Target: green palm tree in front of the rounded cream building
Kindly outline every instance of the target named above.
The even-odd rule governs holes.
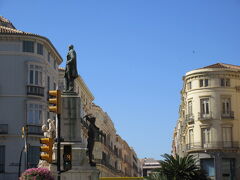
[[[149,176],[150,180],[207,180],[192,155],[174,157],[164,154],[162,157],[164,160],[160,161],[161,168]]]

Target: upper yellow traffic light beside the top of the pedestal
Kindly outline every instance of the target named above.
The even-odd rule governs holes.
[[[49,104],[52,104],[48,107],[50,112],[54,112],[56,114],[61,114],[61,91],[60,90],[52,90],[48,91]]]

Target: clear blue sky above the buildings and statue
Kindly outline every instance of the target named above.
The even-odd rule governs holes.
[[[240,0],[1,0],[17,29],[48,37],[139,158],[170,153],[182,76],[240,65]]]

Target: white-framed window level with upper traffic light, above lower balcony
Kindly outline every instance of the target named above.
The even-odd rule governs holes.
[[[43,105],[29,103],[27,106],[27,123],[41,125],[43,122]]]

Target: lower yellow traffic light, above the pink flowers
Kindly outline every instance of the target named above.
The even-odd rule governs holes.
[[[40,159],[45,160],[48,163],[52,163],[53,155],[53,139],[52,138],[40,138],[40,143],[43,146],[40,146]]]

